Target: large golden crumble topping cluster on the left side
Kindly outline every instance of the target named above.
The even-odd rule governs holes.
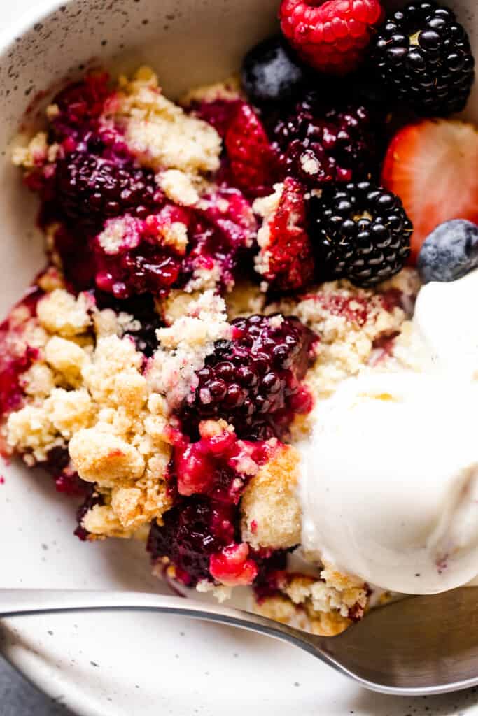
[[[6,444],[29,465],[47,461],[54,448],[68,448],[80,478],[102,490],[105,504],[82,521],[97,536],[130,533],[161,519],[171,506],[166,401],[148,387],[143,354],[129,337],[118,336],[118,322],[126,326],[130,316],[106,309],[92,319],[89,296],[75,299],[60,289],[42,297],[37,309],[38,320],[23,316],[28,330],[21,333],[21,349],[39,336],[44,350],[22,377],[26,405],[10,413]],[[94,348],[75,342],[96,329]]]

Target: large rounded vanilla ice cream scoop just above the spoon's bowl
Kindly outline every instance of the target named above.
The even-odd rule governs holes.
[[[478,573],[478,389],[372,374],[317,405],[302,448],[302,544],[383,589],[431,594]]]

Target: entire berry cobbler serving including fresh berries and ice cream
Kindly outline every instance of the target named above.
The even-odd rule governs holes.
[[[1,450],[80,540],[334,635],[478,574],[474,62],[434,1],[279,20],[176,103],[92,71],[16,146],[47,263],[0,326]]]

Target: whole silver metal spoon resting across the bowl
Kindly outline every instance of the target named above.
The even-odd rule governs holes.
[[[373,609],[338,637],[315,637],[220,604],[135,591],[0,589],[0,617],[60,611],[162,611],[267,634],[373,691],[419,696],[478,684],[478,587]]]

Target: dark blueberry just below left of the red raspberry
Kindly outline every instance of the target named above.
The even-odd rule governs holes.
[[[253,47],[242,63],[242,84],[252,102],[282,102],[300,91],[305,71],[280,37]]]

